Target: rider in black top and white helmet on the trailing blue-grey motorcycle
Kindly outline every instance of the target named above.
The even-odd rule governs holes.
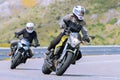
[[[27,39],[31,44],[34,40],[35,47],[40,46],[39,41],[37,39],[37,33],[34,30],[34,26],[35,26],[34,23],[28,22],[24,29],[22,29],[19,32],[15,32],[15,37],[18,38],[20,35],[22,35],[23,38]],[[17,43],[18,43],[18,41],[11,43],[11,46],[10,46],[11,52],[8,54],[9,56],[11,56],[13,54],[12,48],[13,48],[13,46],[17,45]],[[29,53],[28,58],[31,58],[33,56],[31,49],[28,50],[28,53]]]

